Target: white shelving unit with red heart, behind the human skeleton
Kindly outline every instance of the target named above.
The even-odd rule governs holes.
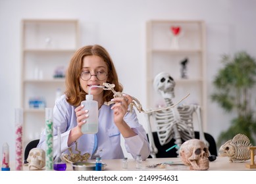
[[[174,45],[171,27],[179,27],[178,47]],[[200,20],[151,20],[147,22],[147,108],[165,104],[163,97],[153,88],[153,80],[160,72],[168,72],[174,81],[174,103],[190,93],[182,103],[199,104],[203,127],[206,128],[205,81],[205,23]],[[188,58],[187,76],[181,75],[182,60]]]

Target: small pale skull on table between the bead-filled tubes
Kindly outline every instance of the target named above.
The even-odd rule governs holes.
[[[34,148],[28,154],[28,168],[29,170],[41,170],[45,166],[45,150]]]

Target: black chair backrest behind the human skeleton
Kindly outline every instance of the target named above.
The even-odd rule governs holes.
[[[216,145],[215,139],[209,133],[204,133],[204,134],[205,134],[206,141],[208,141],[209,143],[209,152],[217,156],[217,145]],[[159,143],[157,132],[153,132],[153,139],[155,142],[155,146],[158,149],[157,154],[155,154],[156,158],[171,158],[171,157],[173,158],[178,156],[175,148],[168,150],[168,152],[166,152],[167,149],[175,145],[174,143],[175,139],[171,139],[170,142],[168,142],[166,145],[163,145],[163,146],[160,145]],[[199,139],[199,131],[195,131],[195,139]],[[184,141],[182,142],[184,143]],[[151,156],[149,156],[149,158],[151,158]]]

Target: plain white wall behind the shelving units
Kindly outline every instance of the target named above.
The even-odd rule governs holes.
[[[205,21],[208,96],[213,90],[213,76],[221,66],[220,55],[245,50],[256,57],[256,1],[253,0],[0,0],[0,145],[9,143],[11,160],[14,160],[14,108],[20,106],[22,18],[78,18],[81,46],[98,43],[106,47],[124,91],[140,99],[141,104],[145,104],[146,93],[147,20]],[[207,104],[205,131],[217,139],[220,131],[230,125],[232,116],[210,99]],[[143,124],[143,114],[139,118]]]

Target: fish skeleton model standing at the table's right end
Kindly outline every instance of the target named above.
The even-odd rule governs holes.
[[[228,156],[230,162],[244,162],[251,158],[249,147],[252,147],[249,138],[239,133],[220,147],[218,156]]]

